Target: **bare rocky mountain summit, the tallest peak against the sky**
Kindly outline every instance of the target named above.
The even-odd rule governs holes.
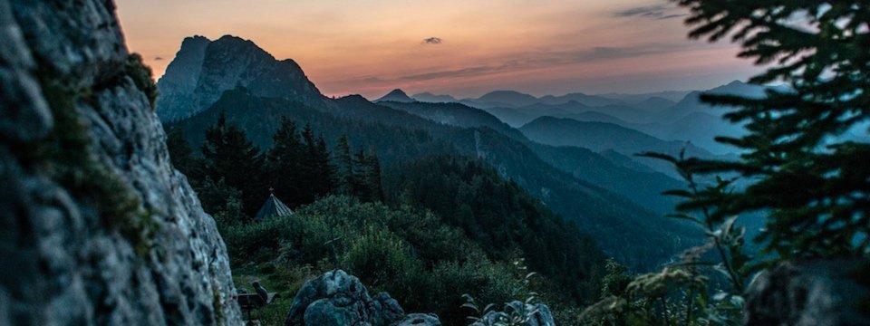
[[[256,96],[315,103],[323,95],[293,60],[277,61],[251,41],[223,36],[185,39],[160,78],[158,115],[164,121],[188,118],[218,101],[220,94],[245,87]]]

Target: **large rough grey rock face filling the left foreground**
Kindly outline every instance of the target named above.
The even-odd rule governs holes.
[[[0,325],[239,324],[104,0],[0,0]]]

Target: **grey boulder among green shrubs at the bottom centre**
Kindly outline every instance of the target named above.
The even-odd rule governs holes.
[[[440,325],[428,314],[405,315],[386,292],[369,295],[365,285],[342,270],[324,273],[304,283],[293,299],[286,326],[303,325]]]

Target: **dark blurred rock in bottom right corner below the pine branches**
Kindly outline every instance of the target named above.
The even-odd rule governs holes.
[[[745,325],[870,325],[870,261],[780,264],[746,294]]]

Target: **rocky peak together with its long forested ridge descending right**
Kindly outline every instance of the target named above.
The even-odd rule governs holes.
[[[409,101],[402,91],[375,102],[357,95],[329,99],[295,63],[275,60],[254,43],[232,36],[203,46],[205,42],[186,40],[179,53],[204,53],[179,54],[181,60],[170,64],[171,72],[159,83],[161,93],[175,100],[159,101],[158,114],[173,121],[167,128],[179,129],[194,149],[220,112],[260,148],[271,145],[283,116],[297,125],[310,124],[330,147],[339,136],[351,136],[353,148],[377,153],[384,170],[433,155],[486,162],[592,235],[605,252],[635,267],[661,264],[701,238],[690,226],[661,217],[673,202],[659,194],[681,182],[618,151],[599,154],[597,149],[542,144],[485,110],[462,102]],[[181,72],[198,72],[198,78]],[[500,104],[506,99],[532,101],[516,92],[484,100]],[[616,104],[622,100],[601,99],[623,105]]]

